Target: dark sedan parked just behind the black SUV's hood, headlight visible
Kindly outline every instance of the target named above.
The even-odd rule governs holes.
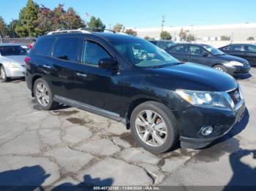
[[[170,47],[167,52],[183,63],[199,63],[227,72],[232,76],[246,74],[251,69],[245,59],[227,55],[208,44],[176,44]]]

